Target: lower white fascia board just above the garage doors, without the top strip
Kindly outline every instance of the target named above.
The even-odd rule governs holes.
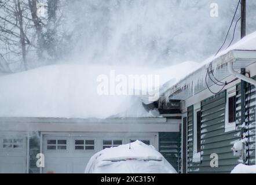
[[[167,123],[0,123],[2,131],[70,131],[70,132],[179,132],[180,124]]]

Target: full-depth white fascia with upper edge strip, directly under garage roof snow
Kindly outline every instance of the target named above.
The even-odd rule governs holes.
[[[0,131],[179,132],[180,120],[0,118]]]

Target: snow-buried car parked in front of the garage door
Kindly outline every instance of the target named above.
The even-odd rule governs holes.
[[[136,142],[99,151],[85,173],[177,173],[153,146]]]

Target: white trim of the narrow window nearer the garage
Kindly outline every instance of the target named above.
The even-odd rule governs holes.
[[[197,136],[196,112],[201,110],[201,102],[196,103],[193,107],[194,108],[193,108],[193,159],[192,159],[192,162],[200,162],[201,161],[201,152],[198,152],[197,151],[198,149],[196,147],[197,141],[198,141],[198,138],[196,137]]]

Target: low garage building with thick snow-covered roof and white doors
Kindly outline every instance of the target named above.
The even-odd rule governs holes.
[[[167,119],[147,111],[140,97],[98,95],[97,75],[109,69],[63,64],[2,76],[0,172],[83,173],[93,154],[134,140],[178,169],[179,107]]]

